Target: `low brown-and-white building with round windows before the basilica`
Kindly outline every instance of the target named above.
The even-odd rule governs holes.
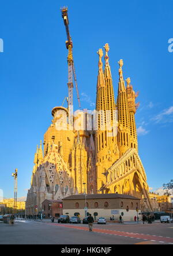
[[[132,221],[141,212],[140,199],[125,194],[89,194],[86,199],[84,194],[80,194],[63,198],[63,214],[70,217],[80,214],[80,218],[84,218],[86,208],[95,220],[99,217],[119,220],[119,215],[122,215],[123,220]]]

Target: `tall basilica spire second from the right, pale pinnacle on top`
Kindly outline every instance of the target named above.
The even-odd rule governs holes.
[[[125,81],[123,80],[122,66],[123,60],[119,60],[119,83],[118,83],[118,147],[120,156],[130,148],[130,129],[129,129],[129,107]]]

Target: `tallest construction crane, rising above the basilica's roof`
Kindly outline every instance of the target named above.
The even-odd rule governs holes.
[[[73,76],[74,76],[78,105],[81,108],[80,97],[79,97],[78,86],[77,86],[77,79],[76,79],[76,72],[75,72],[75,68],[74,68],[73,51],[72,51],[73,43],[72,43],[72,38],[71,38],[70,32],[69,32],[69,18],[68,18],[67,10],[68,10],[67,7],[61,8],[61,14],[62,14],[62,18],[63,18],[63,22],[65,24],[66,34],[67,34],[66,48],[69,51],[68,57],[67,57],[67,63],[68,63],[68,83],[67,83],[67,85],[68,85],[68,90],[69,90],[68,105],[69,106],[73,105]]]

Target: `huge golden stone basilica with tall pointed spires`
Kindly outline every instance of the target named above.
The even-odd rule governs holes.
[[[109,50],[106,43],[104,53],[102,49],[97,52],[95,109],[52,108],[52,123],[34,156],[27,215],[42,212],[45,199],[61,200],[81,193],[132,195],[141,199],[141,211],[153,210],[138,155],[138,93],[130,78],[123,78],[123,60],[119,60],[115,97]]]

